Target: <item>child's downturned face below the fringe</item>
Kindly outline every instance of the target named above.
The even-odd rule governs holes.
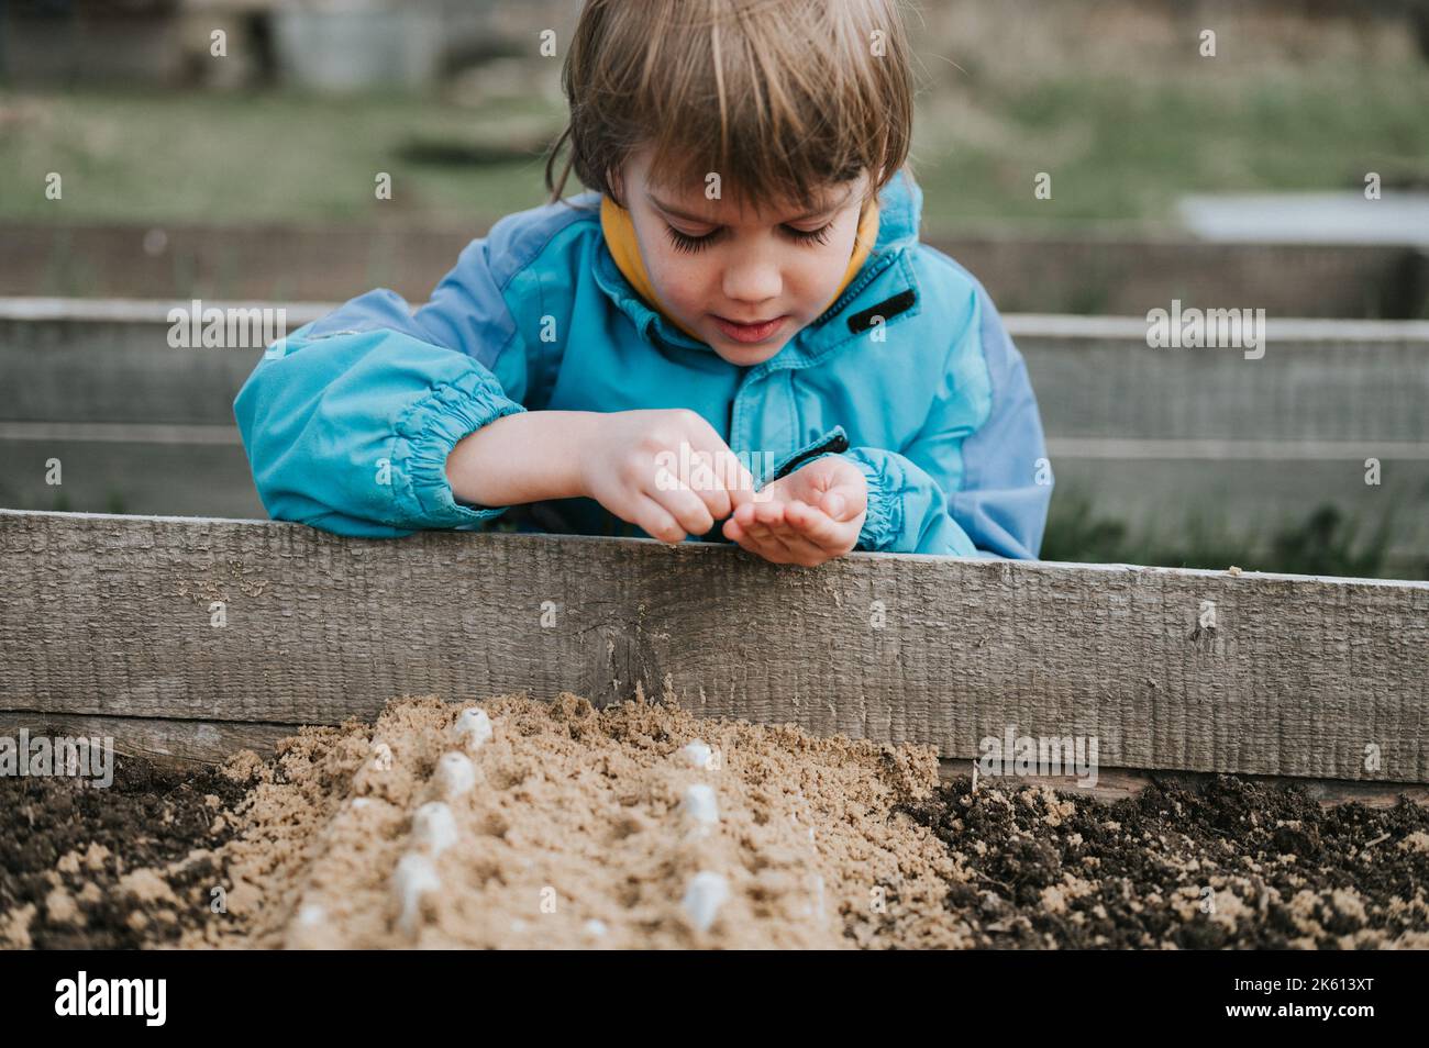
[[[646,181],[650,150],[627,161],[622,196],[662,304],[732,364],[762,364],[829,306],[853,256],[867,173],[802,214],[746,210]],[[696,241],[696,243],[692,243]],[[749,321],[773,321],[743,326]]]

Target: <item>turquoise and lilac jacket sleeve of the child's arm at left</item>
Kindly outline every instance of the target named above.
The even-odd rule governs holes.
[[[459,503],[446,458],[523,411],[536,374],[502,297],[510,220],[472,241],[416,314],[393,291],[369,291],[263,354],[233,410],[273,518],[394,537],[504,511]]]

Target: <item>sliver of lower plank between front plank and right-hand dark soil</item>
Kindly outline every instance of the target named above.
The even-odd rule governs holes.
[[[945,782],[973,774],[975,761],[947,760],[937,762],[937,775]],[[1208,771],[1145,771],[1140,768],[1099,768],[1096,782],[1082,785],[1076,775],[1017,775],[992,778],[979,774],[980,790],[1019,790],[1023,785],[1045,785],[1069,794],[1092,797],[1097,801],[1125,801],[1149,785],[1173,785],[1198,791],[1216,772]],[[1289,775],[1246,775],[1252,782],[1273,787],[1295,787],[1330,808],[1338,804],[1363,804],[1366,808],[1393,808],[1403,797],[1410,804],[1429,807],[1429,785],[1419,782],[1352,782],[1338,778],[1292,778]]]

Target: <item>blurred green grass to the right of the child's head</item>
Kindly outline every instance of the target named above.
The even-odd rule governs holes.
[[[1166,218],[1187,193],[1429,186],[1429,70],[1278,67],[990,87],[915,146],[930,218]],[[926,123],[926,121],[925,121]],[[959,124],[982,129],[960,136]],[[1033,197],[1037,171],[1052,200]]]

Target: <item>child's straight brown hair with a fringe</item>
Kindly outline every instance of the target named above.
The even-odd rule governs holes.
[[[913,77],[900,0],[586,0],[562,83],[570,123],[546,160],[550,200],[572,170],[617,203],[624,161],[650,181],[812,207],[907,163]],[[560,177],[556,158],[569,141]]]

